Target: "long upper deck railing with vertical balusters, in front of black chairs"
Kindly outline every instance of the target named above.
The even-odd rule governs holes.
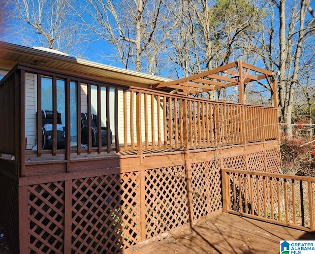
[[[0,136],[1,140],[6,140],[0,143],[1,153],[17,156],[26,147],[26,142],[28,144],[31,142],[30,139],[26,140],[25,128],[27,126],[23,117],[30,116],[26,109],[27,101],[25,101],[26,73],[35,74],[34,90],[37,91],[37,96],[34,95],[34,99],[37,98],[34,103],[35,109],[31,117],[35,118],[36,112],[42,109],[47,110],[47,108],[42,108],[43,77],[49,77],[52,82],[50,96],[54,118],[57,112],[64,112],[65,148],[57,150],[54,125],[52,150],[42,150],[40,146],[37,146],[37,151],[27,151],[27,153],[36,153],[37,156],[63,153],[67,159],[71,153],[82,152],[136,151],[141,154],[142,150],[169,148],[188,151],[198,147],[279,139],[277,108],[275,107],[171,95],[70,76],[66,73],[34,68],[33,65],[18,64],[0,82],[0,117],[5,123],[1,125]],[[62,91],[64,105],[61,110],[60,103],[57,101],[58,89],[60,89],[57,83],[60,81],[64,84]],[[75,84],[76,87],[74,97],[71,97],[73,92],[70,91],[70,84]],[[14,90],[12,90],[13,87]],[[70,101],[73,100],[76,106],[71,108]],[[95,113],[98,116],[99,132],[101,127],[112,130],[114,136],[112,145],[101,146],[101,142],[98,142],[97,147],[92,147],[89,142],[87,148],[81,146],[81,112],[87,112],[89,115]],[[37,114],[37,119],[33,122],[36,123],[33,129],[40,129],[40,114]],[[75,144],[70,134],[71,131],[72,134],[74,132],[73,126],[76,127]],[[13,135],[13,132],[19,133]],[[40,144],[41,134],[37,131],[34,135],[36,136],[34,142]],[[109,140],[110,135],[107,135],[107,144],[110,143]]]

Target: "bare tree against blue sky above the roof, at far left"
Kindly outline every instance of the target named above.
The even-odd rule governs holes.
[[[83,34],[76,13],[72,11],[73,5],[72,0],[11,1],[7,16],[14,24],[12,37],[19,36],[24,44],[32,41],[63,52],[78,52]]]

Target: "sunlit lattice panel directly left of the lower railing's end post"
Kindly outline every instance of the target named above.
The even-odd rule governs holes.
[[[209,215],[222,207],[221,173],[215,161],[191,165],[193,220]]]

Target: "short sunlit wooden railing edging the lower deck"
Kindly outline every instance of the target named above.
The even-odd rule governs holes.
[[[315,230],[315,177],[227,168],[221,171],[223,211]]]

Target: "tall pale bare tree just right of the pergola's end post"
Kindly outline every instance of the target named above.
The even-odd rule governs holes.
[[[285,126],[285,133],[292,135],[292,109],[294,89],[298,84],[298,77],[303,64],[300,61],[301,52],[308,40],[312,40],[312,22],[307,22],[309,0],[295,1],[293,6],[282,1],[272,0],[279,11],[279,47],[275,46],[275,52],[269,52],[273,62],[279,70],[279,107],[280,117]],[[275,24],[275,23],[272,23]],[[272,27],[272,31],[275,29]],[[314,36],[313,36],[314,40]],[[279,49],[279,58],[275,56]]]

